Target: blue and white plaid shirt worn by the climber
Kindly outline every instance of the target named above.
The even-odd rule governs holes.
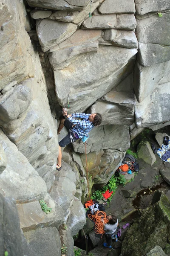
[[[76,133],[79,138],[82,138],[85,134],[88,134],[92,128],[94,128],[93,122],[91,122],[89,118],[90,114],[85,113],[74,113],[71,116],[68,116],[68,120],[75,124],[72,128],[72,132]],[[73,117],[83,118],[83,120],[77,120]]]

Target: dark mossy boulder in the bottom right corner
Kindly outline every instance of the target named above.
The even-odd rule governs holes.
[[[160,193],[159,201],[144,209],[141,217],[128,228],[122,242],[122,256],[147,255],[155,246],[164,248],[169,241],[170,201]]]

